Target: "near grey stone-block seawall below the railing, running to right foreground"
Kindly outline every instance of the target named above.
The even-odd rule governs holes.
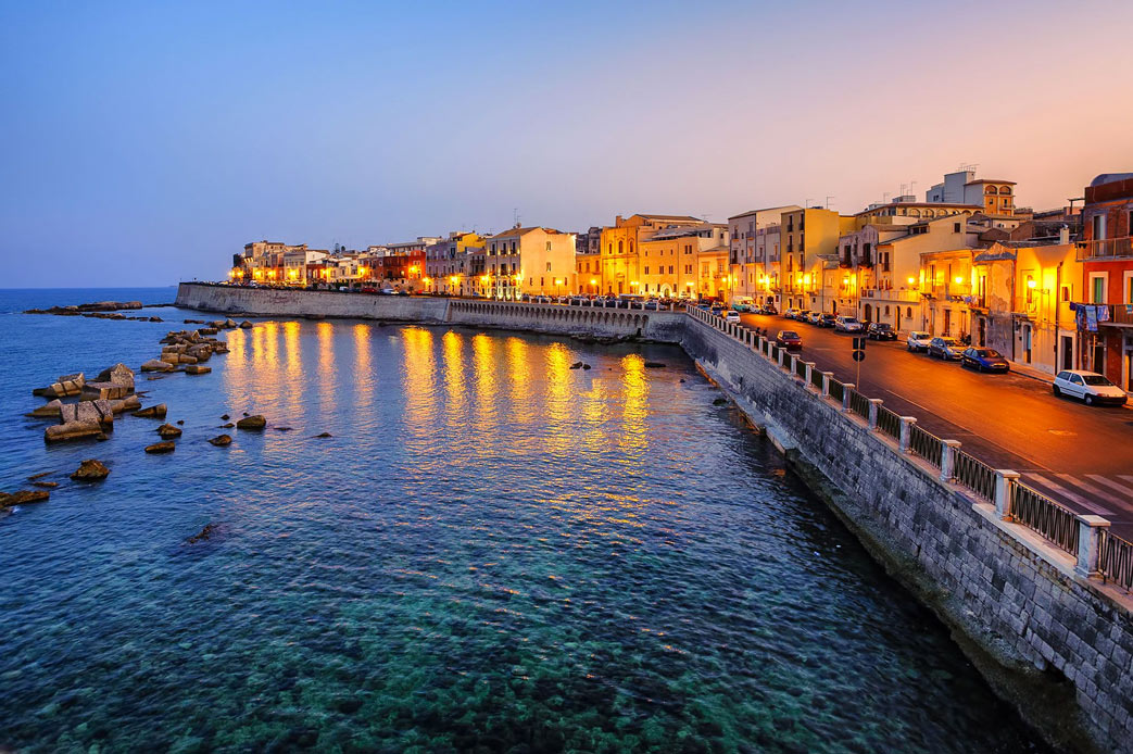
[[[997,691],[1059,747],[1133,751],[1128,595],[1076,575],[1074,557],[940,481],[820,387],[759,353],[749,331],[713,321],[688,316],[684,349],[952,626]]]

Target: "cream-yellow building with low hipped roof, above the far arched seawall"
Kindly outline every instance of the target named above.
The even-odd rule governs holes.
[[[489,236],[477,293],[504,300],[571,293],[577,279],[574,240],[574,234],[538,226]]]

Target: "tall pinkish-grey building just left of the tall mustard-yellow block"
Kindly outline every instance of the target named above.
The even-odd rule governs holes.
[[[749,210],[727,219],[729,263],[735,278],[733,295],[750,296],[759,299],[760,304],[778,303],[773,294],[780,278],[778,231],[783,213],[801,209],[798,204],[773,206]],[[767,238],[770,228],[774,228],[773,239]]]

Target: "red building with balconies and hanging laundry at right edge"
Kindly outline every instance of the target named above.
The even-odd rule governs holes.
[[[1076,259],[1084,283],[1080,364],[1133,392],[1133,172],[1104,173],[1087,186]]]

